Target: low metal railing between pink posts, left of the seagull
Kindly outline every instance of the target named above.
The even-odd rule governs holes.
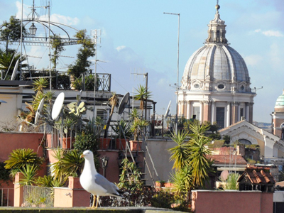
[[[24,207],[54,207],[54,190],[48,187],[23,186]]]

